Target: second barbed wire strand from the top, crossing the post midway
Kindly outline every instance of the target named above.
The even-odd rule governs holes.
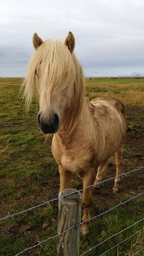
[[[71,226],[71,227],[67,228],[66,230],[64,230],[63,232],[61,232],[61,233],[59,233],[59,234],[57,234],[57,235],[55,235],[55,236],[51,236],[50,238],[47,238],[47,239],[45,239],[45,240],[43,240],[43,241],[41,241],[41,242],[38,242],[38,244],[35,244],[34,246],[31,246],[31,247],[29,247],[29,248],[26,248],[25,250],[23,250],[22,252],[16,254],[15,256],[21,255],[22,253],[27,252],[28,250],[31,250],[31,249],[33,249],[33,248],[36,248],[37,246],[40,246],[41,244],[44,244],[45,242],[47,242],[47,241],[49,241],[49,240],[51,240],[51,239],[53,239],[53,238],[57,238],[58,236],[61,236],[61,235],[65,234],[67,231],[73,230],[73,228],[77,228],[78,226],[80,226],[80,225],[83,224],[83,223],[86,223],[86,222],[88,222],[88,221],[90,221],[90,220],[94,220],[95,218],[101,217],[101,216],[103,216],[104,214],[106,214],[106,213],[110,212],[111,210],[115,209],[116,207],[118,207],[118,206],[120,206],[120,205],[125,205],[125,204],[126,204],[127,202],[129,202],[130,200],[135,199],[135,198],[137,198],[137,197],[140,197],[140,196],[142,196],[142,195],[144,195],[144,192],[143,192],[143,193],[140,193],[140,194],[138,194],[137,196],[134,196],[134,197],[132,197],[132,198],[130,198],[130,199],[124,201],[124,202],[121,202],[121,201],[120,201],[119,204],[117,204],[116,206],[110,208],[109,210],[107,210],[107,211],[105,211],[105,212],[102,212],[102,213],[98,214],[97,216],[94,216],[94,217],[89,218],[89,219],[87,219],[87,220],[84,220],[83,222],[80,222],[80,223],[78,223],[78,224],[76,224],[76,225],[74,225],[74,226]],[[143,219],[142,219],[142,220],[143,220]],[[140,222],[140,221],[139,221],[139,222]],[[136,223],[137,223],[137,222],[136,222]],[[132,226],[134,226],[134,224],[133,224]],[[127,228],[126,228],[126,229],[127,229]],[[84,254],[83,254],[83,255],[84,255]]]

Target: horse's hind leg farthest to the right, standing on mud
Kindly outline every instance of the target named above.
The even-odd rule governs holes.
[[[115,152],[116,176],[120,175],[120,167],[122,166],[122,151],[123,151],[123,145],[118,151]],[[112,188],[114,194],[117,193],[119,190],[119,187],[120,187],[119,182],[120,182],[120,177],[115,178],[114,186]]]

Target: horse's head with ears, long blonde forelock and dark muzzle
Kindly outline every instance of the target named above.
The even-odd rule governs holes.
[[[83,72],[73,54],[75,38],[69,32],[65,42],[43,42],[35,33],[33,45],[35,52],[24,82],[26,104],[29,108],[35,92],[39,102],[37,123],[43,133],[55,133],[69,108],[73,107],[76,115],[81,108],[81,90],[77,84],[81,85]],[[71,106],[72,96],[76,99],[75,106]]]

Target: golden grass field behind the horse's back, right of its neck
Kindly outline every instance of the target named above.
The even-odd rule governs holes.
[[[109,84],[110,97],[117,98],[126,105],[144,106],[144,78],[88,78],[87,97],[108,97]]]

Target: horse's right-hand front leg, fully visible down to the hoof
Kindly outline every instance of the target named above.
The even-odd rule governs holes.
[[[91,172],[86,173],[85,176],[83,177],[83,188],[93,185],[94,181],[95,181],[95,170],[91,170]],[[93,187],[86,188],[83,190],[82,204],[83,204],[84,214],[83,214],[82,221],[85,221],[91,218],[89,214],[89,208],[92,203],[92,198],[91,198],[92,188]],[[87,221],[81,225],[81,234],[86,235],[89,233],[89,222],[90,221]]]

